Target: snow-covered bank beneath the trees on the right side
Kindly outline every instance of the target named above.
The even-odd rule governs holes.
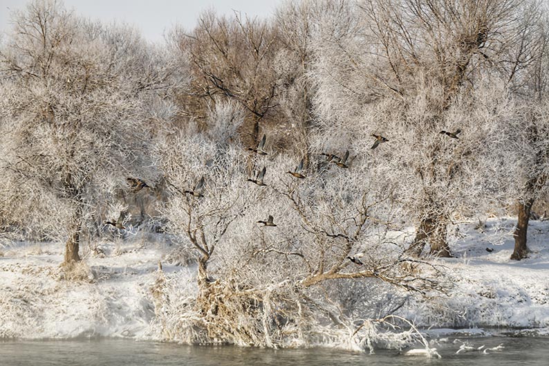
[[[549,221],[530,221],[528,259],[510,260],[516,219],[489,219],[485,226],[455,228],[456,258],[439,259],[453,282],[447,296],[414,299],[401,315],[421,327],[500,328],[499,331],[548,333]],[[460,239],[459,239],[460,238]],[[489,251],[490,250],[490,251]],[[483,333],[498,329],[484,330]]]

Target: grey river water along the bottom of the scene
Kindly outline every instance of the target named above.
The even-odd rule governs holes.
[[[437,345],[442,359],[402,356],[398,351],[380,350],[362,354],[333,349],[257,349],[241,347],[191,347],[171,343],[136,342],[122,339],[0,341],[1,366],[230,366],[230,365],[429,365],[504,366],[549,365],[549,338],[460,338],[476,347],[505,349],[482,354],[456,354],[460,343]]]

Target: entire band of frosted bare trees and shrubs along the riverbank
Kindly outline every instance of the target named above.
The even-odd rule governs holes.
[[[517,214],[523,259],[546,205],[547,15],[537,0],[288,1],[264,20],[205,12],[151,44],[32,1],[0,41],[2,239],[64,241],[78,262],[126,230],[121,201],[149,196],[142,230],[198,264],[207,338],[267,346],[318,308],[344,322],[319,285],[444,291],[429,257],[452,256],[456,223]],[[257,316],[228,335],[243,307]]]

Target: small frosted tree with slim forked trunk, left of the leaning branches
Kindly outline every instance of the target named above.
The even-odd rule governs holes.
[[[186,237],[196,250],[198,280],[211,282],[207,266],[219,241],[245,207],[243,162],[247,154],[236,147],[232,136],[243,122],[234,102],[216,104],[210,111],[208,132],[192,122],[174,129],[157,145],[171,197],[162,208],[168,230]]]

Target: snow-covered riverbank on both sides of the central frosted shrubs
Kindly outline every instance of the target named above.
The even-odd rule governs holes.
[[[456,258],[436,261],[453,277],[454,288],[436,300],[412,298],[399,315],[431,327],[427,333],[435,337],[486,335],[492,327],[549,335],[549,221],[530,221],[532,253],[521,262],[509,259],[513,224],[505,218],[490,219],[484,228],[456,226]],[[102,241],[81,249],[86,265],[76,281],[62,278],[62,250],[59,243],[0,247],[0,338],[160,339],[151,286],[158,261],[173,248],[151,235]],[[163,264],[163,271],[194,286],[192,268]]]

